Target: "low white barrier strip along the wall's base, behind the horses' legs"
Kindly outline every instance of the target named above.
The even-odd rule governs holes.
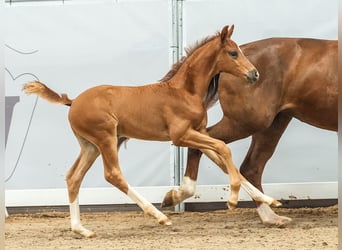
[[[136,187],[135,189],[152,203],[161,203],[167,191],[173,186]],[[265,184],[264,191],[278,200],[336,199],[337,182],[317,183],[277,183]],[[230,191],[227,185],[199,185],[193,197],[185,202],[226,202]],[[133,204],[123,193],[115,188],[83,188],[80,190],[81,205]],[[250,201],[245,191],[240,192],[240,201]],[[22,206],[61,206],[68,205],[67,190],[25,189],[7,190],[6,205]]]

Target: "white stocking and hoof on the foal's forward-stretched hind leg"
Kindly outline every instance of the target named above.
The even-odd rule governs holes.
[[[154,218],[156,218],[160,224],[171,225],[171,221],[165,214],[160,212],[155,206],[153,206],[149,201],[147,201],[143,196],[141,196],[130,186],[128,186],[127,195],[134,202],[136,202],[146,214],[152,215]]]

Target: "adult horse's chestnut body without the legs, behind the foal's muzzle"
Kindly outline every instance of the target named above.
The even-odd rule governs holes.
[[[337,129],[337,41],[268,38],[244,44],[241,50],[260,78],[247,86],[221,74],[219,99],[230,131],[255,133],[270,126],[280,112]]]

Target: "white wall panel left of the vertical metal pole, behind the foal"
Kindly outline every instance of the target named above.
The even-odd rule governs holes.
[[[22,85],[36,76],[73,98],[102,83],[156,82],[169,70],[168,8],[167,1],[129,1],[6,9],[6,96],[20,98],[8,134],[6,177],[16,169],[7,189],[64,188],[79,152],[68,107],[35,103]],[[129,141],[120,162],[131,185],[170,184],[170,143]],[[108,186],[100,158],[83,186]]]

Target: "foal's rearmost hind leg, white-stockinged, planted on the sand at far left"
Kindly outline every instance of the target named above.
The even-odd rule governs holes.
[[[87,173],[95,159],[99,156],[99,151],[94,144],[77,135],[76,137],[80,143],[81,152],[66,176],[70,202],[71,230],[85,237],[93,237],[95,236],[95,233],[82,226],[78,193],[84,175]]]

